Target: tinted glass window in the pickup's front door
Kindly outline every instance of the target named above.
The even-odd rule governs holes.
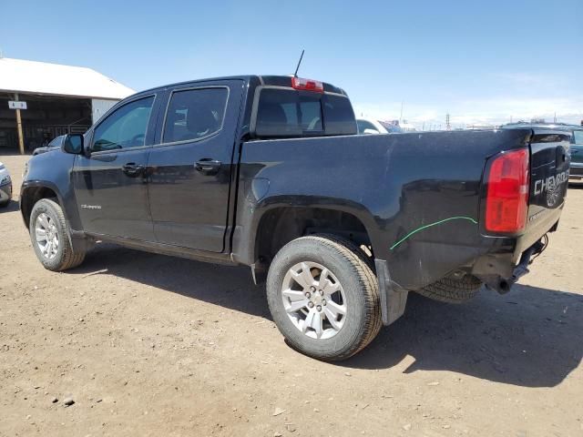
[[[95,129],[94,151],[144,146],[154,97],[119,107]]]

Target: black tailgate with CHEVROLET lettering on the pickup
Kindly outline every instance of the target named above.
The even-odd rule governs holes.
[[[552,228],[560,216],[568,188],[570,140],[568,130],[533,130],[527,233],[534,240]]]

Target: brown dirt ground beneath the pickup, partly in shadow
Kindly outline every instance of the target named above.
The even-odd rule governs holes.
[[[15,199],[26,158],[0,156]],[[366,350],[328,364],[286,345],[249,269],[101,244],[53,273],[14,201],[0,212],[0,436],[581,436],[582,219],[570,188],[511,293],[410,295]]]

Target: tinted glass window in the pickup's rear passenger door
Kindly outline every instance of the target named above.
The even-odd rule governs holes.
[[[222,127],[229,90],[199,88],[172,93],[166,121],[165,143],[208,137]]]

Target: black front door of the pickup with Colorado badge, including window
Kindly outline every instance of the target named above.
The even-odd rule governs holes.
[[[78,156],[73,187],[87,232],[154,241],[148,199],[148,151],[155,96],[118,107],[92,134],[90,155]]]

